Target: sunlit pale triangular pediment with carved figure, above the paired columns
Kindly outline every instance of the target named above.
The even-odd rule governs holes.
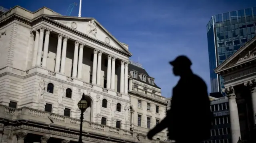
[[[97,20],[94,18],[72,17],[72,16],[52,16],[47,15],[48,18],[84,33],[94,39],[102,41],[119,50],[131,54],[128,51],[128,45],[119,42],[113,35],[111,35]]]

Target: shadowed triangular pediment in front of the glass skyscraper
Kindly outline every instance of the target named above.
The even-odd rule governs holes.
[[[226,59],[222,64],[220,64],[216,69],[215,73],[219,73],[226,69],[242,65],[244,63],[254,61],[256,59],[256,36],[250,41],[245,43],[238,51],[233,53],[228,59]]]

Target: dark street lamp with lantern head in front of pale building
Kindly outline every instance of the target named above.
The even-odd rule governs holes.
[[[81,117],[80,117],[80,134],[78,143],[82,142],[82,126],[83,126],[83,119],[84,119],[84,112],[90,106],[90,103],[87,102],[85,98],[85,94],[83,93],[81,100],[78,102],[78,108],[81,110]]]

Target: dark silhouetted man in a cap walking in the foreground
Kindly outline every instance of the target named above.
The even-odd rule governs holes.
[[[178,56],[170,64],[180,80],[172,90],[171,109],[148,132],[148,139],[168,127],[169,139],[177,143],[200,143],[210,137],[213,119],[206,83],[192,72],[192,63],[186,56]]]

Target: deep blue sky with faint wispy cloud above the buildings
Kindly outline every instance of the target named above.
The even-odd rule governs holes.
[[[31,11],[45,6],[65,15],[73,2],[79,0],[2,0],[0,6],[19,5]],[[83,0],[82,16],[96,18],[128,44],[131,59],[140,59],[162,88],[162,96],[170,97],[179,78],[173,76],[168,61],[181,54],[192,60],[193,71],[206,81],[210,92],[206,24],[214,14],[254,6],[255,0]],[[78,9],[71,15],[77,16]]]

